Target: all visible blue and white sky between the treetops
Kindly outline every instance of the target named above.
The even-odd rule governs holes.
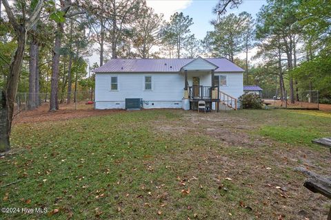
[[[170,20],[170,16],[174,12],[183,12],[185,16],[191,17],[194,24],[190,27],[190,30],[197,39],[203,39],[206,32],[213,30],[210,21],[217,18],[212,13],[212,9],[218,2],[217,0],[146,0],[146,2],[149,7],[154,8],[155,12],[164,14],[166,21]],[[255,19],[259,9],[265,3],[265,0],[243,0],[239,8],[228,8],[226,14],[239,14],[245,11],[252,14]],[[253,48],[249,53],[249,57],[254,56],[256,51],[257,48]],[[239,54],[239,58],[243,58],[243,56],[244,54]],[[95,62],[99,63],[99,54],[94,53],[88,60],[90,65]]]

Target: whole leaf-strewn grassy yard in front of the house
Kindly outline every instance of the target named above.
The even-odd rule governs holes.
[[[15,124],[0,159],[0,219],[326,218],[294,171],[330,173],[331,113],[150,110]],[[276,188],[285,187],[286,191]],[[330,203],[329,203],[330,204]]]

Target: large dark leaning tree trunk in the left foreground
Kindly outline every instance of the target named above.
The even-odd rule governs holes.
[[[26,47],[26,30],[23,26],[17,30],[17,50],[10,63],[10,70],[6,91],[1,91],[0,98],[0,152],[10,149],[10,131],[14,114],[14,100],[19,84],[19,74],[23,63],[24,49]]]

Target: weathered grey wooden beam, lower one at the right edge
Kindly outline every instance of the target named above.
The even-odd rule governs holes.
[[[310,170],[305,168],[296,168],[296,170],[300,171],[304,175],[308,176],[309,178],[305,180],[303,186],[308,188],[308,190],[312,192],[318,192],[325,197],[331,199],[331,178],[330,177],[323,177],[316,173],[313,173]]]

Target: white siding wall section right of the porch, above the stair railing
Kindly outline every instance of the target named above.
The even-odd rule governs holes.
[[[220,91],[225,94],[239,98],[243,94],[243,74],[242,73],[227,73],[215,72],[215,76],[226,76],[226,86],[219,87]]]

